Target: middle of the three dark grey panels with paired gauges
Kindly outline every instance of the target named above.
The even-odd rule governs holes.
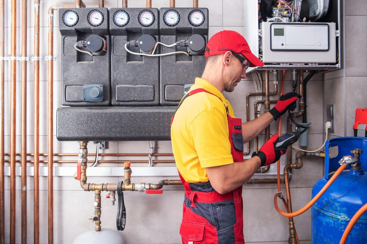
[[[139,14],[144,10],[154,14],[154,22],[150,26],[142,26],[139,23]],[[124,26],[118,26],[114,22],[114,16],[119,11],[125,11],[129,16],[129,21]],[[125,49],[126,42],[138,40],[143,34],[152,35],[159,41],[158,9],[111,8],[109,22],[112,41],[112,105],[159,105],[159,57],[134,55]],[[138,47],[127,48],[139,53]]]

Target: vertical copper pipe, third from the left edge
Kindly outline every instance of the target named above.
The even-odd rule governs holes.
[[[27,56],[27,0],[22,0],[22,57]],[[27,244],[27,61],[21,63],[22,83],[22,194],[21,194],[21,218],[22,218],[22,244]]]

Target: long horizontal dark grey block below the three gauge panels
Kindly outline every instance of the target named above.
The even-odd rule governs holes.
[[[175,106],[61,107],[60,141],[171,140]]]

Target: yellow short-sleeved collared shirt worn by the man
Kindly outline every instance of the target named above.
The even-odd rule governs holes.
[[[171,126],[172,150],[178,171],[189,183],[207,182],[207,167],[233,164],[225,105],[231,117],[234,117],[233,108],[206,80],[196,78],[190,91],[197,88],[217,95],[223,102],[212,94],[200,92],[187,97],[175,113]]]

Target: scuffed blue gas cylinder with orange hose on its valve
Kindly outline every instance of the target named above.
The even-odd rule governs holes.
[[[353,215],[367,203],[367,138],[333,138],[325,144],[325,176],[312,188],[312,198],[324,187],[339,168],[344,155],[352,149],[362,149],[361,169],[346,168],[327,189],[311,210],[311,243],[338,244]],[[329,156],[329,157],[328,157]],[[349,234],[346,244],[367,244],[367,213],[364,213]]]

